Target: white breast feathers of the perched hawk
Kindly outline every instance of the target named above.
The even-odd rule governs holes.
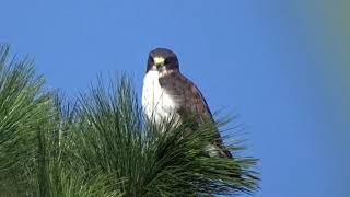
[[[148,118],[155,123],[171,118],[176,112],[176,103],[160,85],[158,71],[149,71],[144,76],[142,107]]]

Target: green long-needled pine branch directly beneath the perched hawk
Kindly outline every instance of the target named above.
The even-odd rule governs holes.
[[[176,128],[174,120],[154,127],[144,120],[127,77],[109,89],[103,84],[80,97],[68,141],[74,150],[70,161],[80,161],[72,169],[113,177],[109,184],[124,196],[226,195],[257,188],[256,159],[207,157],[213,125],[184,138],[191,119]]]

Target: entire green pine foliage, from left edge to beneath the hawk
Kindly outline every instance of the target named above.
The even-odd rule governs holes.
[[[77,101],[44,84],[33,61],[9,60],[9,46],[0,47],[0,196],[210,196],[258,187],[256,159],[207,157],[222,121],[189,134],[191,119],[154,126],[126,74],[100,80]]]

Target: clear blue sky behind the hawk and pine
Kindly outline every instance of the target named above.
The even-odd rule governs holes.
[[[74,97],[173,49],[212,111],[240,114],[258,197],[350,195],[350,3],[326,0],[0,0],[0,43]]]

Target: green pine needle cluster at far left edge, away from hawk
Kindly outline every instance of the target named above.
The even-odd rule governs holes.
[[[0,190],[3,196],[36,195],[36,131],[47,119],[44,79],[27,59],[9,61],[0,45]]]

